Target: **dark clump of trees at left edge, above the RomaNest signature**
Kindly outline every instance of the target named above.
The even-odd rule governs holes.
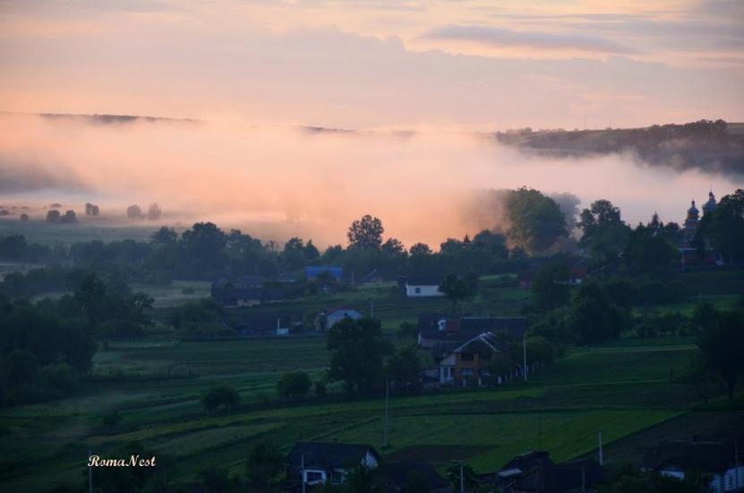
[[[4,404],[72,393],[96,342],[141,335],[152,298],[125,284],[81,275],[73,294],[37,303],[0,293],[0,387]]]

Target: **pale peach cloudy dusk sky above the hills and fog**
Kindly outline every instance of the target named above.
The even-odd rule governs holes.
[[[744,120],[744,2],[0,0],[0,109],[480,130]]]

